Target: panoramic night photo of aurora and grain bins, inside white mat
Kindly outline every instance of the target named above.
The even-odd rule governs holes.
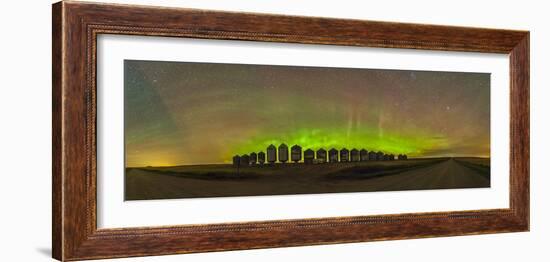
[[[490,74],[124,61],[125,200],[489,188]]]

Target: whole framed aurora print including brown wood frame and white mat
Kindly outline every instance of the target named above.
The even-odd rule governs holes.
[[[529,230],[529,32],[53,5],[53,257]]]

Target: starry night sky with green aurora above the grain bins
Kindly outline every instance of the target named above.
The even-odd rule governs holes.
[[[126,166],[230,163],[269,144],[490,156],[490,74],[124,62]]]

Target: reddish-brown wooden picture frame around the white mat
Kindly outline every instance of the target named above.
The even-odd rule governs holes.
[[[529,230],[529,32],[83,2],[53,5],[53,257],[81,260]],[[98,229],[96,40],[124,34],[504,53],[510,208]]]

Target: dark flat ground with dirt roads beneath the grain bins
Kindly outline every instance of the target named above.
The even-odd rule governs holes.
[[[126,200],[490,187],[490,159],[127,168]]]

